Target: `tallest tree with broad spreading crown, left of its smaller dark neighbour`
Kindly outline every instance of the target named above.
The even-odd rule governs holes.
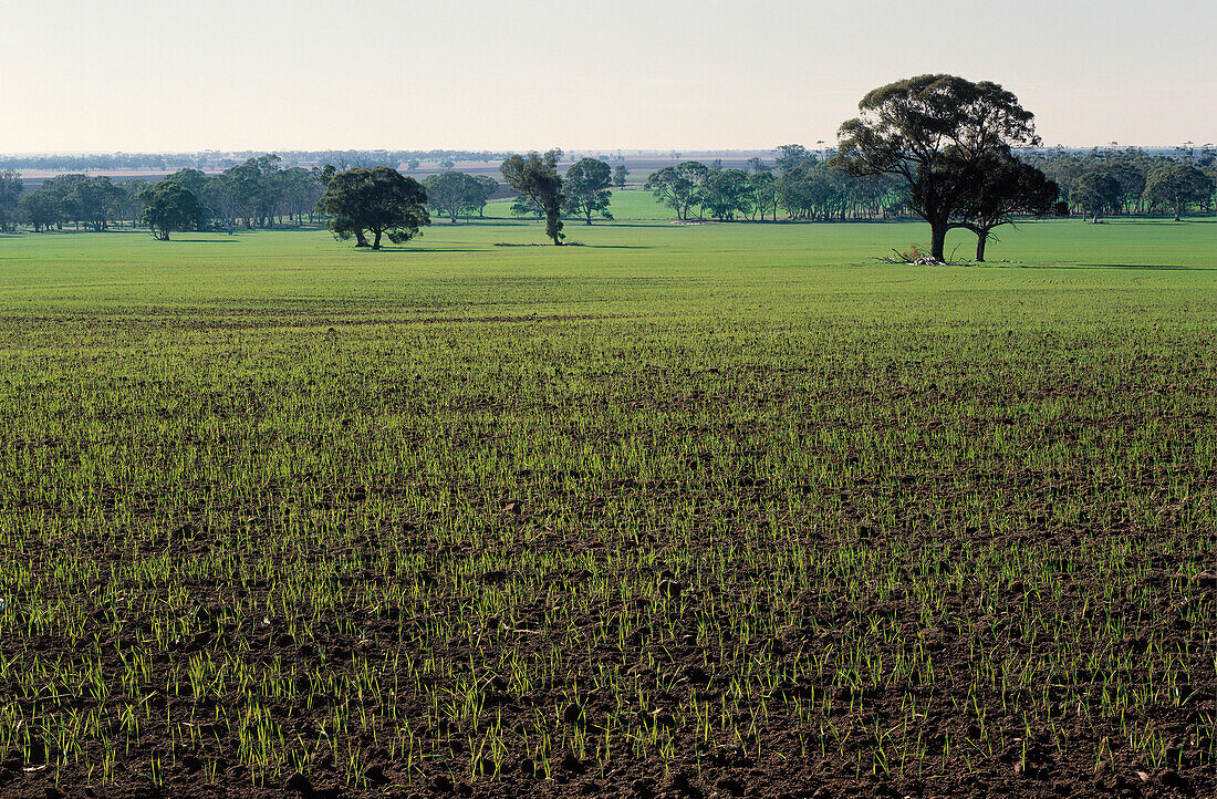
[[[837,158],[854,175],[894,174],[909,208],[930,223],[930,256],[943,261],[947,230],[977,164],[1002,147],[1037,145],[1034,117],[996,83],[919,76],[871,90],[837,132]]]

